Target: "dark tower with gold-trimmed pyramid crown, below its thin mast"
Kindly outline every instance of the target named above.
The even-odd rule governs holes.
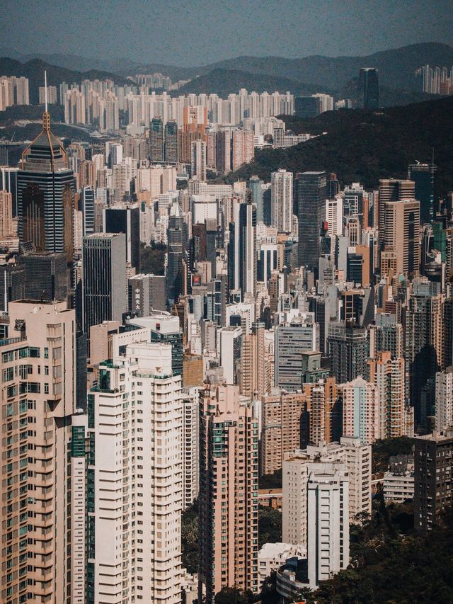
[[[18,235],[36,251],[74,255],[74,173],[68,169],[62,142],[50,132],[50,115],[42,114],[42,130],[22,155],[17,176]]]

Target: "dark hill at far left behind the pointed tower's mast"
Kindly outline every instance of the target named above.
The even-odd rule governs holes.
[[[0,58],[0,74],[2,76],[25,76],[29,79],[30,103],[38,103],[39,87],[44,86],[45,71],[47,71],[47,84],[50,86],[59,86],[62,81],[72,84],[84,79],[112,79],[115,84],[126,84],[128,82],[121,75],[98,71],[97,69],[80,72],[65,67],[57,67],[42,61],[42,59],[31,59],[26,63],[21,63],[17,59]]]

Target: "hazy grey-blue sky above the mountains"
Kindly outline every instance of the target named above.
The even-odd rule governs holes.
[[[0,0],[0,45],[24,54],[188,67],[238,55],[367,55],[453,43],[452,0]]]

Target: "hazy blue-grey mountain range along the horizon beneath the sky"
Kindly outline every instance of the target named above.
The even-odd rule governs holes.
[[[420,91],[420,81],[415,79],[415,69],[423,64],[432,66],[451,66],[453,48],[437,42],[423,42],[375,52],[364,57],[323,57],[313,55],[299,59],[284,57],[236,57],[200,67],[176,67],[160,63],[140,64],[129,59],[92,59],[75,55],[28,55],[19,57],[17,53],[0,49],[5,56],[14,56],[28,61],[40,58],[50,64],[65,69],[86,71],[88,69],[106,70],[122,76],[137,73],[161,72],[173,81],[193,79],[217,69],[261,74],[275,78],[287,78],[295,82],[304,82],[304,86],[313,85],[316,89],[341,90],[352,78],[356,77],[360,67],[377,67],[380,83],[390,89]]]

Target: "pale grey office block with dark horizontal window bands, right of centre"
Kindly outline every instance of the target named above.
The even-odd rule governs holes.
[[[289,392],[302,386],[302,353],[319,350],[319,324],[314,314],[294,317],[275,330],[275,386]]]

